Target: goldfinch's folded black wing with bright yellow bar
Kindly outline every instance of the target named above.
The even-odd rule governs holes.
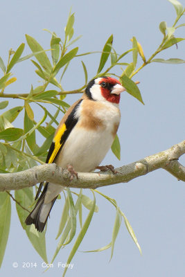
[[[62,120],[60,121],[60,124],[58,125],[58,128],[55,131],[51,147],[49,148],[46,163],[53,163],[55,161],[57,154],[60,152],[60,150],[64,146],[64,143],[67,141],[67,138],[71,133],[71,130],[73,129],[73,127],[75,127],[76,123],[78,122],[78,118],[74,115],[76,114],[76,109],[78,109],[78,106],[80,105],[80,102],[82,102],[83,98],[84,97],[82,96],[82,98],[73,103],[73,105],[71,105],[71,107],[67,110]],[[43,184],[44,182],[39,184],[39,188],[37,190],[35,199],[38,198],[39,193],[42,190]]]

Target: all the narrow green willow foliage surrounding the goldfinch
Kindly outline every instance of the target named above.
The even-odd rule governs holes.
[[[161,62],[166,64],[182,64],[185,61],[179,58],[169,58],[164,60],[156,58],[156,55],[165,51],[167,48],[177,45],[179,42],[183,42],[185,38],[175,37],[175,31],[177,28],[182,28],[185,24],[177,25],[179,19],[184,15],[185,9],[182,7],[181,3],[177,0],[168,0],[173,4],[177,17],[173,26],[168,26],[166,21],[162,21],[159,24],[159,30],[163,35],[161,44],[157,47],[155,53],[146,59],[144,55],[143,48],[138,42],[136,37],[132,37],[132,44],[130,49],[124,51],[123,53],[117,53],[113,47],[113,35],[107,39],[105,45],[103,46],[103,51],[98,52],[88,52],[88,53],[78,53],[78,47],[73,47],[80,36],[73,39],[74,35],[74,14],[69,13],[69,18],[67,19],[67,26],[64,28],[64,37],[60,38],[55,32],[46,30],[51,34],[51,40],[49,42],[49,50],[44,50],[39,42],[30,35],[26,35],[26,42],[30,48],[31,53],[24,57],[21,57],[24,52],[24,43],[21,43],[16,51],[8,52],[8,63],[5,64],[0,57],[0,97],[1,98],[17,98],[20,101],[19,107],[12,107],[7,109],[0,115],[0,171],[3,173],[7,172],[17,172],[21,170],[26,170],[36,166],[38,163],[44,163],[46,159],[46,154],[53,140],[53,134],[55,132],[55,127],[58,125],[58,118],[61,118],[65,113],[66,109],[69,107],[67,102],[64,102],[69,93],[82,92],[85,89],[88,80],[88,71],[85,63],[82,63],[82,68],[85,75],[85,82],[82,84],[82,87],[76,89],[75,91],[64,91],[63,89],[63,78],[64,74],[69,68],[69,64],[73,64],[73,60],[79,59],[84,55],[97,55],[100,53],[100,62],[98,64],[98,71],[95,76],[91,78],[97,78],[98,76],[103,75],[115,75],[112,73],[115,68],[120,69],[120,73],[116,75],[116,78],[119,78],[123,86],[125,87],[127,93],[130,93],[134,98],[143,103],[141,97],[141,92],[136,83],[132,80],[134,75],[138,73],[144,66],[152,64],[152,62]],[[72,47],[71,47],[72,46]],[[130,61],[131,57],[131,61]],[[13,70],[15,69],[16,64],[20,64],[25,60],[33,58],[31,62],[35,66],[35,73],[41,78],[42,84],[39,87],[33,88],[31,86],[28,93],[17,93],[6,95],[6,87],[11,85],[17,79],[12,77]],[[80,64],[79,62],[79,64]],[[138,66],[138,63],[141,62],[141,66]],[[17,65],[18,66],[18,65]],[[81,64],[80,64],[81,66]],[[50,87],[48,88],[48,86]],[[24,102],[24,103],[23,103]],[[47,107],[53,105],[55,107],[55,114],[50,114]],[[0,109],[6,109],[8,107],[8,100],[0,102]],[[37,114],[42,114],[39,120],[36,121]],[[44,113],[44,114],[43,114]],[[14,127],[14,121],[16,119],[21,120],[23,123],[22,128]],[[47,123],[46,123],[47,122]],[[39,147],[37,145],[37,135],[43,137],[43,143]],[[116,135],[114,143],[112,144],[112,152],[120,160],[120,143],[118,136]],[[118,231],[120,231],[121,220],[124,220],[125,226],[128,233],[130,233],[134,243],[139,248],[141,252],[141,247],[136,239],[136,235],[130,223],[127,220],[127,217],[118,207],[116,200],[103,195],[98,190],[94,190],[96,193],[105,197],[108,202],[110,202],[114,208],[116,208],[116,217],[113,224],[112,238],[111,242],[105,247],[93,250],[93,252],[104,251],[105,249],[111,248],[111,257],[114,253],[114,247]],[[96,197],[94,191],[91,190],[93,198],[87,197],[87,195],[82,193],[74,193],[73,190],[64,190],[64,197],[62,197],[63,212],[59,224],[58,233],[56,235],[58,240],[58,245],[53,255],[52,261],[55,260],[55,257],[58,255],[58,252],[61,248],[64,248],[67,244],[73,243],[71,253],[69,253],[69,258],[67,263],[71,262],[76,251],[80,247],[80,243],[84,238],[91,219],[94,213],[98,213],[98,206],[96,206]],[[3,260],[3,255],[6,249],[6,243],[8,240],[8,233],[10,229],[10,195],[8,193],[0,193],[0,265]],[[15,199],[17,201],[16,208],[17,214],[19,215],[19,221],[22,228],[26,231],[28,239],[33,244],[33,247],[47,262],[46,257],[46,240],[45,240],[45,231],[39,233],[35,230],[33,225],[26,226],[24,220],[28,215],[28,211],[33,208],[35,204],[33,188],[25,188],[24,190],[15,191]],[[83,209],[88,210],[87,217],[84,222],[82,222],[82,211]],[[78,220],[79,217],[80,231],[77,233]],[[73,242],[76,235],[76,241]],[[66,273],[67,268],[64,271],[63,276]]]

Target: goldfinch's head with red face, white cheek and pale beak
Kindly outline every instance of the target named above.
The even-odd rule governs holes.
[[[111,77],[91,80],[85,89],[87,97],[91,100],[109,101],[116,104],[119,103],[122,91],[125,91],[125,88],[118,80]]]

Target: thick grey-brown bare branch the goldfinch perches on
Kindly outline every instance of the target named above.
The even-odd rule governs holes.
[[[42,181],[50,181],[60,186],[69,188],[99,188],[101,186],[110,186],[118,183],[126,183],[132,179],[143,176],[163,168],[185,181],[185,168],[177,160],[182,154],[185,154],[185,141],[173,145],[168,150],[153,154],[127,166],[116,168],[118,173],[98,172],[98,173],[78,173],[78,179],[69,180],[69,171],[64,170],[55,163],[46,163],[42,166],[35,166],[25,171],[16,173],[0,174],[0,191],[19,190]]]

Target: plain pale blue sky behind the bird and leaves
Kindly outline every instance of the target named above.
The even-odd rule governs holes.
[[[131,47],[130,39],[134,35],[143,46],[146,57],[149,57],[161,42],[159,22],[165,20],[171,26],[176,16],[175,9],[166,0],[3,1],[0,12],[0,55],[3,60],[8,57],[9,48],[16,49],[21,42],[26,42],[26,33],[35,37],[45,49],[50,48],[51,36],[42,29],[48,28],[59,36],[63,35],[71,6],[76,13],[75,36],[82,35],[76,44],[80,47],[79,53],[100,51],[113,33],[114,48],[118,53]],[[185,28],[177,30],[177,37],[184,37],[184,34]],[[157,57],[179,57],[185,60],[184,49],[184,42],[180,42],[178,49],[173,46]],[[24,55],[27,53],[30,50],[26,46]],[[96,54],[76,59],[64,78],[64,89],[76,89],[84,83],[80,60],[87,65],[90,80],[96,74],[99,58],[100,55]],[[30,61],[17,64],[14,70],[17,82],[7,91],[21,93],[28,92],[30,84],[36,87],[39,78],[33,69]],[[109,152],[103,164],[121,166],[131,163],[166,150],[184,139],[184,72],[184,64],[153,63],[135,76],[134,80],[141,82],[139,88],[146,105],[141,105],[127,93],[122,95],[122,119],[118,130],[121,161]],[[67,101],[72,103],[79,97],[80,95],[67,96]],[[15,105],[15,101],[17,100],[12,100],[12,105]],[[72,260],[73,269],[69,269],[67,276],[183,277],[185,230],[182,181],[177,181],[164,170],[157,170],[128,184],[109,186],[100,191],[116,199],[127,215],[143,256],[122,224],[111,262],[110,249],[101,253],[78,252]],[[115,211],[103,198],[97,197],[97,204],[99,213],[94,215],[80,251],[103,247],[111,240]],[[12,203],[12,207],[10,236],[1,276],[43,276],[42,259],[21,229],[15,203]],[[49,260],[57,245],[55,235],[61,210],[62,202],[59,201],[52,210],[48,224],[46,238]],[[62,270],[58,269],[57,264],[67,261],[70,249],[71,246],[60,251],[54,268],[44,276],[62,276]],[[18,262],[19,267],[14,269],[12,262]],[[21,267],[22,262],[37,262],[37,268],[24,269]]]

